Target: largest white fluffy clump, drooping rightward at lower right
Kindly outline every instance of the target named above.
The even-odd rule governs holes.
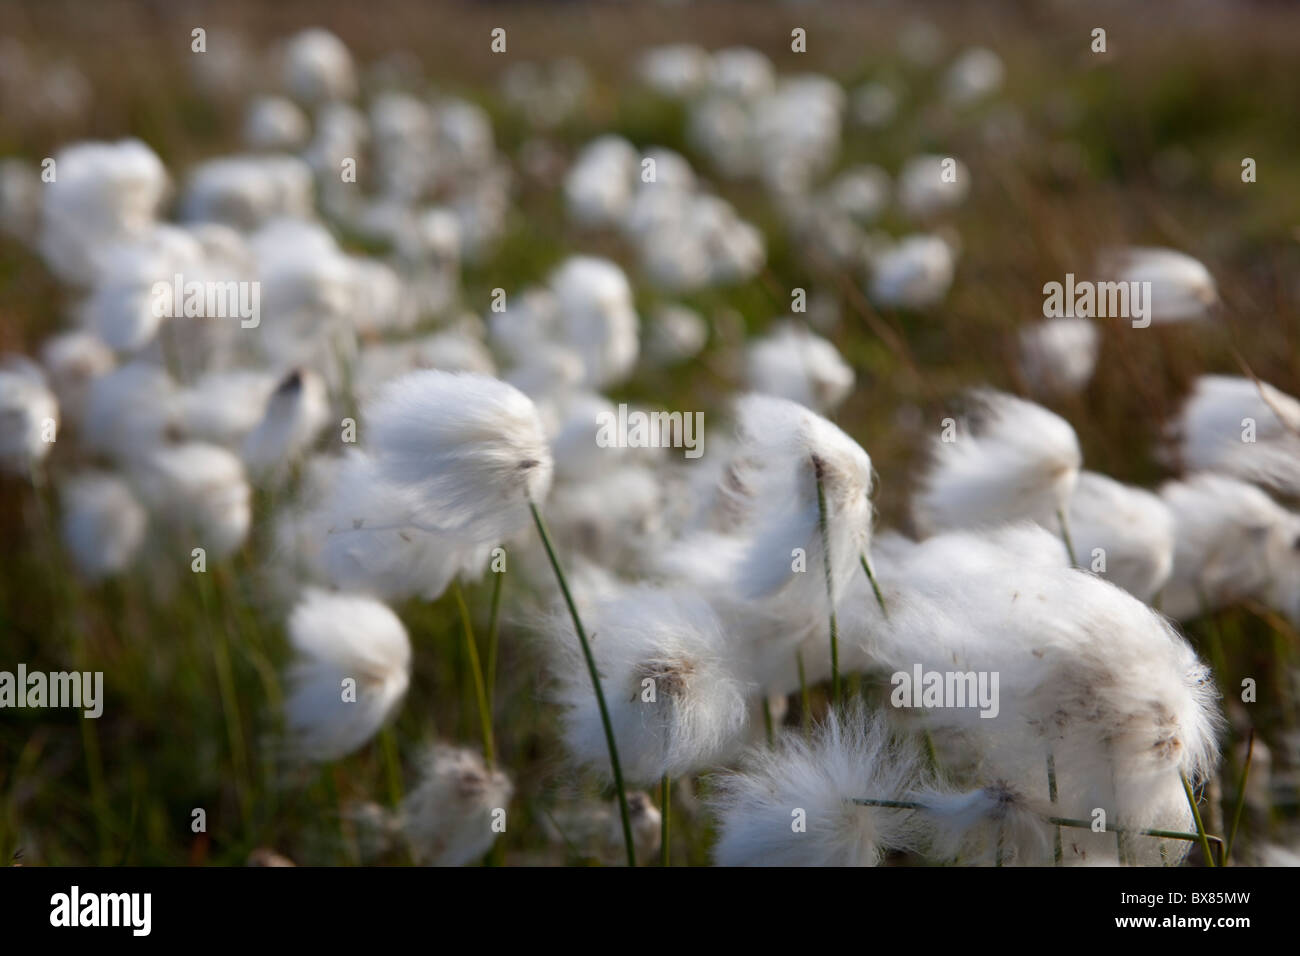
[[[1044,549],[1052,538],[1041,528],[1018,533],[1037,535]],[[884,675],[920,667],[998,676],[993,717],[971,705],[892,710],[935,731],[954,783],[1001,782],[1041,801],[1050,753],[1061,816],[1087,819],[1101,806],[1112,823],[1188,829],[1179,774],[1195,784],[1218,761],[1208,667],[1165,618],[1121,588],[997,550],[979,531],[881,558],[888,619],[864,601],[849,613],[846,602],[841,641],[862,641]],[[1070,842],[1080,855],[1098,852],[1087,834]],[[1113,853],[1113,838],[1109,845]],[[1164,849],[1178,858],[1186,847]],[[1134,852],[1158,861],[1158,851],[1152,840]]]

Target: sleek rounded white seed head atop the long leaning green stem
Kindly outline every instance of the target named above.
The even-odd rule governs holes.
[[[410,496],[425,531],[495,544],[550,489],[537,407],[497,378],[411,372],[376,397],[364,424],[377,475]]]

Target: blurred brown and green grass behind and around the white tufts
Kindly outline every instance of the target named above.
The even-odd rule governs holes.
[[[205,30],[204,53],[191,51],[196,27]],[[283,44],[307,27],[346,44],[363,113],[384,92],[403,91],[471,104],[490,124],[489,160],[472,179],[482,190],[474,202],[490,212],[474,206],[463,219],[463,228],[481,226],[478,241],[462,247],[451,290],[412,328],[485,317],[491,290],[543,284],[575,252],[606,256],[628,272],[644,336],[658,334],[666,306],[697,313],[707,333],[694,354],[640,365],[610,397],[716,412],[720,421],[745,384],[745,343],[788,317],[792,290],[805,289],[807,323],[853,369],[835,420],[872,457],[885,525],[907,527],[923,442],[962,389],[1032,392],[1019,333],[1043,315],[1043,285],[1088,273],[1110,247],[1195,256],[1213,274],[1219,306],[1208,321],[1143,336],[1108,326],[1084,388],[1036,395],[1075,427],[1089,468],[1147,486],[1166,477],[1156,455],[1161,429],[1199,375],[1242,375],[1244,360],[1265,381],[1300,392],[1296,4],[6,3],[0,160],[39,172],[69,143],[135,137],[165,164],[164,208],[176,212],[205,160],[256,150],[250,139],[259,137],[261,148],[283,137],[277,148],[303,155],[317,142],[312,129],[298,135],[292,118],[273,111],[265,129],[250,118],[257,96],[286,92]],[[500,53],[490,48],[497,27],[506,30]],[[1106,31],[1104,53],[1091,49],[1096,27]],[[806,52],[792,49],[796,29],[806,31]],[[731,81],[710,79],[707,62],[690,57],[664,57],[655,72],[646,55],[668,44],[746,47],[771,74],[758,69],[755,79],[750,62]],[[829,95],[829,126],[809,121],[805,130],[815,111],[794,96],[762,113],[772,129],[759,126],[737,155],[725,135],[734,117],[708,112],[708,85],[776,90],[777,81],[811,74],[840,91]],[[320,130],[318,113],[302,116]],[[685,157],[702,190],[758,229],[759,261],[716,281],[672,282],[625,229],[577,221],[566,177],[592,140],[611,134],[638,156],[663,147]],[[781,153],[785,134],[793,146]],[[968,182],[962,202],[902,200],[907,161],[926,155],[959,159]],[[374,163],[367,156],[363,190]],[[1242,179],[1244,157],[1256,161],[1254,182]],[[883,200],[864,166],[884,173]],[[34,356],[75,324],[78,299],[34,250],[21,187],[4,182],[0,352]],[[468,195],[452,181],[429,189],[452,207]],[[350,254],[391,251],[391,235],[373,219],[325,217]],[[920,307],[870,295],[879,251],[918,226],[954,252],[950,284]],[[79,454],[60,442],[51,472],[75,467]],[[212,606],[147,564],[83,580],[49,532],[48,507],[25,476],[0,476],[0,669],[25,661],[104,670],[108,702],[96,722],[69,711],[0,714],[0,855],[31,864],[243,864],[269,847],[300,862],[361,860],[339,808],[384,799],[377,749],[321,771],[290,771],[274,744],[274,674],[286,645],[257,557],[266,542],[257,509],[268,506],[255,503],[254,540],[220,568]],[[472,592],[484,606],[485,585]],[[408,696],[416,705],[402,710],[398,740],[413,748],[434,731],[472,740],[448,600],[399,613],[413,643],[436,653],[416,654]],[[238,757],[205,649],[211,627],[247,639],[230,675]],[[1222,636],[1227,687],[1254,675],[1268,688],[1252,721],[1271,765],[1252,771],[1264,795],[1244,826],[1257,844],[1280,840],[1300,784],[1296,633],[1231,610],[1187,628],[1202,649],[1206,628]],[[586,860],[599,853],[547,838],[564,770],[525,631],[507,619],[502,635],[498,739],[521,821],[503,858]],[[1226,780],[1240,769],[1243,727],[1234,723]],[[707,862],[707,821],[693,816],[689,792],[682,800],[675,852]],[[188,826],[196,806],[208,810],[207,834]]]

